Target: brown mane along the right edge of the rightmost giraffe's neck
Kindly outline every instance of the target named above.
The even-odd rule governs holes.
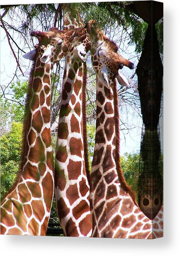
[[[120,132],[119,132],[119,104],[118,104],[118,94],[117,94],[117,86],[116,80],[113,81],[113,95],[114,95],[114,123],[115,123],[115,162],[117,175],[119,178],[119,182],[121,187],[129,196],[132,198],[135,205],[139,208],[136,202],[136,194],[132,190],[131,186],[129,186],[125,180],[124,174],[122,172],[121,163],[120,163]]]

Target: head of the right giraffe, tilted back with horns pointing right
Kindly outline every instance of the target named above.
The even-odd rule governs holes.
[[[118,70],[122,69],[123,66],[133,69],[134,64],[117,52],[118,46],[105,36],[95,20],[89,21],[87,32],[91,37],[92,66],[98,77],[98,83],[110,88],[117,77],[119,84],[128,86],[126,77],[120,74]]]

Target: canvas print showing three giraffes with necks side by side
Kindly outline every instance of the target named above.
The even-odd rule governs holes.
[[[163,3],[1,5],[1,234],[163,237]]]

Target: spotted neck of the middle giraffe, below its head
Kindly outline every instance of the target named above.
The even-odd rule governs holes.
[[[91,236],[82,126],[82,61],[67,56],[55,159],[55,197],[66,236]]]

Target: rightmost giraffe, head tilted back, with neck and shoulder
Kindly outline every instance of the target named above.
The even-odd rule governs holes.
[[[133,63],[117,53],[110,41],[91,20],[92,66],[96,73],[96,134],[90,177],[92,237],[152,239],[162,237],[162,230],[152,232],[152,221],[139,209],[131,187],[120,166],[118,94],[115,78],[128,86],[118,69]],[[155,223],[154,223],[155,224]]]

